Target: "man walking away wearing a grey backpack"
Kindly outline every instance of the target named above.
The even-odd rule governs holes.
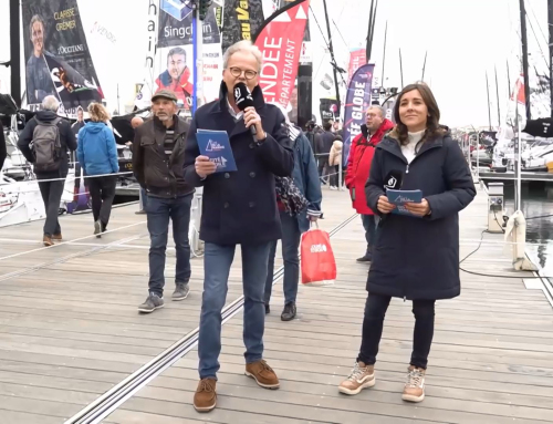
[[[46,210],[44,223],[44,246],[53,246],[62,240],[62,229],[58,221],[65,177],[69,173],[67,151],[76,149],[76,139],[71,124],[60,116],[60,102],[53,95],[44,97],[42,111],[29,121],[19,136],[18,147],[33,164],[39,179],[39,188]]]

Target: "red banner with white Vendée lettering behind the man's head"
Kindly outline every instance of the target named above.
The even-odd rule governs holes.
[[[259,86],[265,102],[288,107],[293,95],[310,0],[299,0],[273,13],[255,37],[263,55]]]

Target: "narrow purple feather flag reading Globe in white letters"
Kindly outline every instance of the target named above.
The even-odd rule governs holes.
[[[365,123],[367,108],[371,105],[374,69],[375,65],[368,63],[361,66],[353,74],[347,87],[344,110],[344,154],[342,155],[344,166],[347,164],[352,142],[361,133],[361,126]]]

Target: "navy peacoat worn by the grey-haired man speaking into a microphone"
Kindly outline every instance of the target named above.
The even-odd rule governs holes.
[[[219,100],[194,115],[185,147],[185,180],[204,186],[200,239],[217,245],[261,244],[281,238],[281,224],[274,195],[274,176],[291,176],[294,157],[284,116],[265,104],[261,89],[252,92],[267,139],[258,145],[243,120],[234,122],[227,105],[227,87],[221,84]],[[237,172],[217,173],[201,180],[195,162],[200,155],[198,128],[229,134]]]

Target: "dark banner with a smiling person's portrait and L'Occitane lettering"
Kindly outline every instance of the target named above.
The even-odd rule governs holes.
[[[48,95],[61,114],[76,115],[104,99],[86,43],[76,0],[22,0],[28,108]]]

